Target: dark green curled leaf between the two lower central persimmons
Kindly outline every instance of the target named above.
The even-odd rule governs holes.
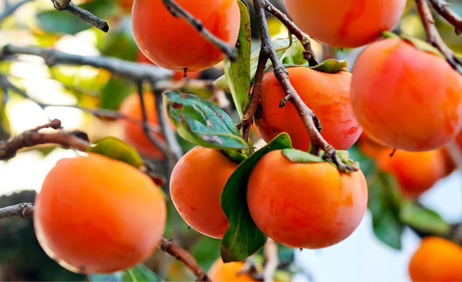
[[[242,162],[229,177],[221,193],[221,206],[229,220],[220,245],[220,255],[225,263],[241,261],[256,253],[266,242],[266,236],[258,229],[247,207],[247,182],[258,160],[268,152],[292,148],[291,139],[281,133],[266,146]]]

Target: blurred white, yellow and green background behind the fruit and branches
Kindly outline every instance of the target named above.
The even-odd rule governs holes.
[[[20,1],[0,0],[0,14],[7,5],[17,2]],[[73,2],[104,18],[110,26],[110,31],[103,33],[68,13],[54,10],[49,0],[31,0],[0,22],[0,47],[6,44],[32,45],[73,54],[106,55],[127,61],[146,62],[142,55],[140,56],[131,34],[131,0]],[[282,1],[273,2],[283,9]],[[462,15],[462,0],[451,0],[451,4],[453,10]],[[259,48],[258,32],[255,29],[257,25],[252,5],[249,6],[255,36],[253,50],[256,50]],[[454,51],[462,53],[462,37],[457,36],[453,27],[442,18],[436,14],[435,17],[446,43]],[[273,39],[287,37],[286,29],[276,19],[268,16],[268,25]],[[408,9],[396,31],[425,39],[425,30],[416,14],[413,1],[409,1]],[[350,70],[362,50],[338,50],[316,42],[313,42],[313,47],[320,58],[347,59]],[[87,132],[90,140],[108,135],[124,138],[122,126],[117,120],[95,116],[79,108],[117,111],[123,100],[136,92],[135,86],[128,80],[89,66],[49,67],[44,64],[43,59],[29,55],[20,55],[13,61],[0,62],[0,74],[7,75],[12,83],[30,96],[25,97],[15,91],[10,91],[6,95],[0,89],[0,140],[45,124],[49,118],[59,118],[67,130],[79,129]],[[221,66],[217,66],[198,76],[201,79],[216,79],[222,74]],[[181,79],[181,75],[176,79]],[[207,98],[213,95],[200,94]],[[41,107],[43,105],[46,106]],[[253,132],[252,137],[254,143],[262,144],[262,141],[258,141],[257,132]],[[190,148],[190,144],[182,140],[180,144],[184,150]],[[72,150],[40,147],[22,152],[8,162],[0,162],[0,207],[33,202],[35,192],[40,191],[46,174],[56,161],[72,156],[75,156]],[[152,160],[152,163],[159,169],[159,173],[163,173],[162,163],[157,160]],[[361,163],[363,169],[367,165],[368,163]],[[460,223],[462,173],[455,170],[440,179],[432,189],[421,195],[420,203],[436,211],[447,223]],[[284,253],[281,256],[289,262],[287,265],[290,265],[285,270],[293,275],[284,277],[286,280],[294,281],[409,280],[408,261],[420,241],[417,233],[405,228],[401,250],[393,249],[375,236],[372,216],[368,211],[355,233],[338,245],[301,252],[283,249]],[[220,241],[189,230],[171,203],[165,237],[174,238],[177,244],[195,256],[205,270],[219,257]],[[162,252],[156,252],[146,265],[165,280],[194,280],[181,264]],[[48,258],[36,241],[32,220],[0,220],[0,280],[87,279],[84,275],[65,270]]]

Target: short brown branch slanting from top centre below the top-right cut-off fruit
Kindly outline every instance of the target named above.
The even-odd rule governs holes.
[[[266,11],[279,19],[279,21],[288,29],[288,31],[297,37],[298,41],[305,49],[303,52],[303,57],[306,61],[308,61],[308,63],[310,63],[310,66],[313,67],[319,65],[316,53],[311,46],[310,38],[308,38],[306,34],[287,17],[287,15],[277,9],[273,4],[269,3],[268,0],[264,0],[263,5],[265,6]]]

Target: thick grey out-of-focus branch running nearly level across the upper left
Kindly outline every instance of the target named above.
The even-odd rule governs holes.
[[[171,77],[172,71],[153,66],[151,64],[133,63],[122,59],[107,56],[82,56],[74,55],[54,49],[46,49],[32,46],[5,45],[0,51],[1,59],[11,59],[14,55],[33,55],[42,57],[48,66],[74,65],[92,66],[110,71],[113,74],[132,79],[134,82],[149,79],[155,82]]]

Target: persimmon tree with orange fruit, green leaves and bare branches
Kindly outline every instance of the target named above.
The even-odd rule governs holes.
[[[0,21],[29,1],[6,7]],[[3,46],[0,62],[32,55],[50,68],[91,66],[132,83],[134,93],[105,95],[100,108],[45,104],[17,86],[8,68],[0,69],[4,98],[16,93],[42,109],[72,107],[115,120],[127,142],[110,136],[90,142],[84,131],[61,128],[59,119],[5,139],[1,160],[37,145],[87,155],[61,160],[35,207],[5,207],[0,218],[34,218],[47,254],[92,280],[159,280],[140,264],[158,247],[200,281],[272,281],[281,270],[287,273],[287,265],[278,261],[278,246],[335,245],[354,232],[367,207],[375,234],[393,248],[401,248],[405,226],[422,237],[462,244],[462,225],[451,227],[416,199],[462,164],[462,144],[454,139],[462,129],[462,62],[438,33],[429,4],[457,34],[462,19],[444,1],[415,0],[425,42],[391,32],[406,1],[369,1],[357,14],[344,1],[331,3],[339,6],[338,14],[322,1],[287,1],[295,23],[268,0],[252,1],[260,38],[254,52],[243,0],[135,0],[131,26],[139,50],[129,52],[130,59]],[[109,31],[97,13],[84,9],[93,2],[83,8],[69,0],[51,2],[57,11],[43,14],[42,21],[68,12]],[[272,41],[266,13],[285,26],[287,38]],[[321,62],[309,35],[340,48],[370,45],[351,74],[345,61]],[[171,79],[175,72],[187,77],[220,62],[224,74],[216,79]],[[124,85],[112,83],[111,91]],[[266,142],[260,148],[249,138],[254,123]],[[46,128],[54,131],[42,131]],[[369,137],[360,138],[362,130]],[[422,171],[409,170],[414,163]],[[425,178],[415,175],[425,169]],[[162,237],[167,208],[158,186],[176,208],[169,213],[178,212],[190,228],[221,240],[221,258],[210,276],[187,251]],[[424,244],[411,262],[413,279],[425,268],[421,253],[436,248]],[[457,244],[445,246],[458,259]],[[451,271],[428,275],[456,279]],[[115,274],[100,275],[108,272]]]

